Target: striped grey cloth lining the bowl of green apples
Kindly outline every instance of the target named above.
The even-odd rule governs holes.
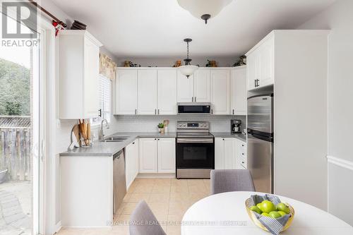
[[[270,194],[265,194],[265,195],[251,195],[251,202],[250,205],[257,205],[258,203],[261,203],[263,200],[270,200],[273,204],[277,205],[278,203],[281,203],[280,198],[278,198],[275,195],[270,195]],[[263,226],[270,231],[271,234],[278,235],[282,231],[283,227],[285,227],[285,224],[287,224],[287,221],[290,217],[290,215],[284,215],[280,218],[273,219],[271,217],[266,217],[263,215],[260,215],[258,213],[255,213],[256,218],[258,221],[263,224]]]

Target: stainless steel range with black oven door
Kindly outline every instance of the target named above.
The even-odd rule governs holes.
[[[215,139],[208,121],[177,122],[177,179],[210,179]]]

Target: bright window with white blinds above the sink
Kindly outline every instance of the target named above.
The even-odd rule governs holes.
[[[92,119],[92,124],[100,124],[103,119],[110,122],[112,116],[112,80],[100,74],[99,76],[99,105],[102,110],[102,116],[97,119]]]

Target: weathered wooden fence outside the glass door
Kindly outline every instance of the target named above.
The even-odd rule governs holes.
[[[31,180],[30,128],[0,128],[0,169],[9,181]]]

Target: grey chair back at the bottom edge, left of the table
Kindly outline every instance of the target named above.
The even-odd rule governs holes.
[[[136,205],[130,222],[130,235],[166,235],[144,200]]]

